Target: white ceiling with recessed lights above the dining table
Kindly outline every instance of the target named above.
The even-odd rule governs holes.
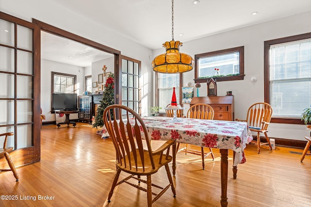
[[[52,1],[147,48],[161,48],[164,42],[172,40],[171,0]],[[311,11],[311,0],[200,0],[196,5],[192,1],[174,1],[174,40],[184,44],[204,36]],[[252,15],[253,12],[258,14]],[[184,35],[179,36],[180,33]],[[53,37],[46,37],[48,40],[55,45]],[[51,50],[42,48],[42,56],[55,53],[45,39],[42,44]],[[72,47],[73,43],[67,40],[61,44],[66,51],[66,46]],[[94,56],[90,48],[78,47],[76,52],[71,52],[75,56]]]

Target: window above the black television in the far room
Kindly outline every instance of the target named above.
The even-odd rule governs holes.
[[[53,102],[52,94],[54,93],[67,93],[67,94],[75,93],[76,92],[75,86],[77,83],[76,81],[77,81],[76,75],[52,72],[51,103]],[[52,104],[51,104],[51,111],[53,111]]]

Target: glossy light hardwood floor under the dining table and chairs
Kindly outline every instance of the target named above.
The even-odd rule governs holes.
[[[115,174],[113,144],[110,139],[96,135],[96,129],[83,125],[42,126],[41,161],[18,168],[19,182],[15,182],[12,172],[0,173],[0,194],[17,198],[1,199],[0,206],[147,206],[146,193],[126,184],[115,189],[107,205]],[[302,149],[278,146],[273,151],[267,147],[260,149],[257,154],[256,145],[247,145],[247,161],[238,165],[237,179],[232,178],[229,167],[228,207],[310,207],[311,156],[301,163]],[[200,156],[180,152],[173,177],[176,198],[168,190],[153,206],[219,207],[220,154],[218,149],[213,152],[215,160],[207,158],[205,170]],[[229,166],[231,158],[229,152]],[[164,168],[153,176],[153,181],[159,185],[168,182]],[[40,196],[49,196],[43,198],[51,200],[39,200]]]

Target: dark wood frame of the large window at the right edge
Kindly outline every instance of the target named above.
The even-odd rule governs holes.
[[[263,71],[264,71],[264,102],[270,104],[270,68],[269,68],[269,51],[270,47],[277,44],[290,43],[294,41],[310,39],[311,32],[298,34],[289,37],[283,37],[273,40],[264,41],[264,55],[263,55]],[[281,123],[281,124],[305,124],[300,118],[271,118],[271,123]]]

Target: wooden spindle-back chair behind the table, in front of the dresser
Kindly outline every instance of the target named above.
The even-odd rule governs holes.
[[[214,110],[213,108],[208,104],[194,104],[190,107],[190,109],[187,111],[187,118],[193,118],[193,119],[213,119],[214,118]],[[189,144],[186,144],[186,147],[183,149],[179,149],[179,143],[177,144],[177,152],[178,151],[184,151],[195,155],[201,155],[202,156],[202,167],[203,170],[205,168],[204,159],[211,155],[212,159],[214,160],[214,154],[210,147],[208,147],[209,152],[204,152],[204,147],[201,147],[201,151],[190,149]]]

